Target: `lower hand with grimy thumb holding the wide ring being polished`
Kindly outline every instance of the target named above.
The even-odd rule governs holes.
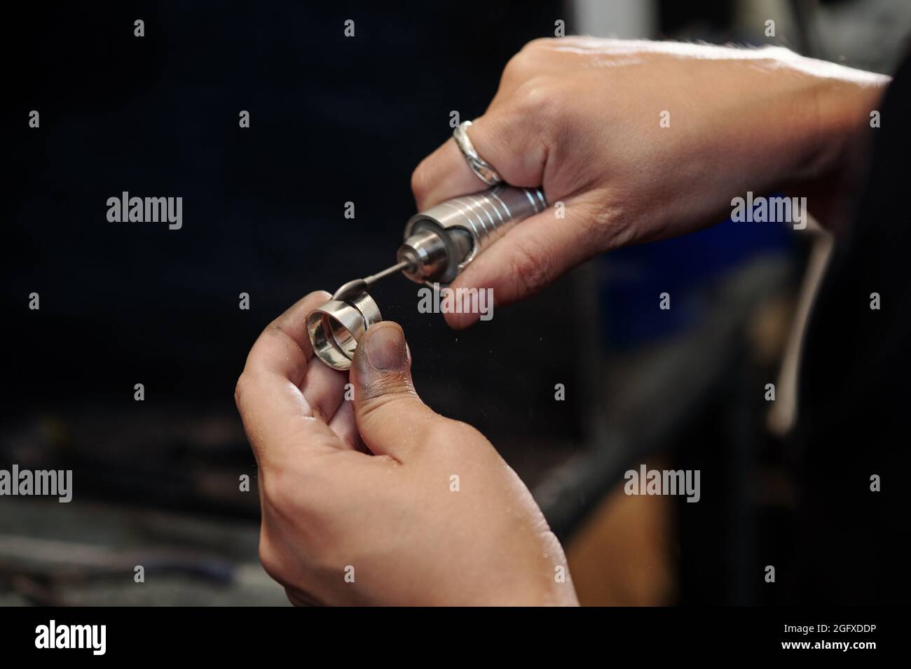
[[[259,464],[260,557],[292,603],[574,604],[566,558],[482,434],[415,392],[402,329],[347,373],[312,355],[312,293],[253,345],[235,399]]]

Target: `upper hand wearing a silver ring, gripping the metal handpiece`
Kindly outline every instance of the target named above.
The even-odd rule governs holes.
[[[720,221],[731,200],[800,186],[832,198],[846,147],[888,78],[777,47],[560,37],[507,64],[468,135],[507,183],[551,208],[478,257],[453,288],[526,297],[583,260]],[[486,186],[453,139],[412,178],[419,209]],[[562,203],[565,218],[558,218]],[[450,313],[465,327],[477,314]]]

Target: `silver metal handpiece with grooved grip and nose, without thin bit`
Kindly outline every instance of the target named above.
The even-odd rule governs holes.
[[[446,200],[408,221],[396,259],[408,262],[408,279],[451,283],[508,228],[547,206],[539,188],[511,186]]]

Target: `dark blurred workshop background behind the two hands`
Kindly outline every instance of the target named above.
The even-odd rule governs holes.
[[[450,136],[451,111],[484,112],[527,41],[553,35],[558,18],[567,34],[619,30],[597,32],[578,5],[5,10],[0,466],[72,469],[75,500],[0,500],[0,603],[281,601],[255,564],[255,462],[233,403],[247,351],[303,295],[393,261],[415,211],[412,170]],[[762,13],[733,2],[650,6],[650,29],[620,36],[783,44],[889,71],[884,35],[905,5],[786,3],[773,40]],[[40,128],[27,125],[32,109]],[[107,222],[107,198],[124,190],[182,197],[183,227]],[[568,542],[583,602],[761,603],[755,573],[793,531],[763,386],[810,245],[727,221],[596,258],[463,332],[418,314],[405,279],[373,295],[404,327],[425,401],[483,431],[527,481]],[[670,312],[656,309],[662,291]],[[40,310],[28,309],[32,292]],[[643,461],[701,469],[702,501],[670,502],[670,529],[650,532],[668,583],[646,576],[648,596],[599,599],[614,591],[581,565],[608,573],[619,557],[588,542],[592,519],[610,516],[622,472]],[[252,492],[238,490],[244,473]],[[630,546],[636,573],[658,573],[635,541],[651,516],[637,514],[615,543]],[[79,557],[87,547],[105,557]],[[118,585],[131,583],[134,553],[169,587]]]

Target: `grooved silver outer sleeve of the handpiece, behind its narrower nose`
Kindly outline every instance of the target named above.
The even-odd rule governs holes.
[[[441,202],[415,214],[404,228],[408,238],[423,228],[461,228],[472,238],[472,248],[458,265],[465,269],[485,248],[501,238],[511,226],[547,208],[540,188],[496,186],[474,195]]]

